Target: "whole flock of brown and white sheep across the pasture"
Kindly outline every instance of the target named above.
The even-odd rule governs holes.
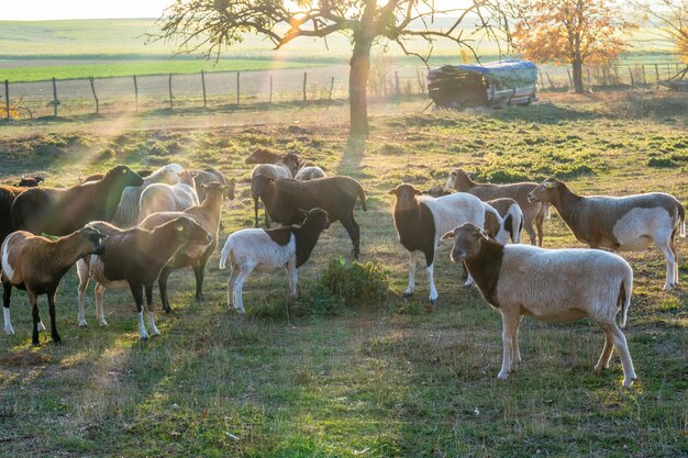
[[[228,304],[244,313],[242,289],[252,271],[287,269],[289,291],[297,294],[297,269],[306,262],[322,231],[339,221],[359,256],[356,203],[366,210],[366,196],[349,177],[326,177],[293,154],[256,149],[247,164],[257,164],[251,192],[255,228],[232,233],[220,256],[220,267],[232,267]],[[142,339],[159,334],[155,326],[153,286],[170,312],[167,280],[174,269],[191,267],[196,299],[203,298],[206,264],[220,239],[221,212],[234,199],[234,180],[215,169],[185,170],[171,164],[136,172],[118,166],[65,189],[38,187],[41,178],[18,187],[0,187],[1,279],[4,331],[10,320],[12,288],[26,291],[33,313],[33,344],[45,326],[37,295],[46,294],[51,334],[60,338],[55,321],[55,292],[63,276],[77,265],[78,324],[86,326],[85,291],[96,281],[96,315],[107,325],[106,289],[129,289],[138,313]],[[542,183],[476,183],[462,169],[451,172],[446,188],[421,192],[402,183],[396,197],[393,221],[401,245],[409,252],[409,283],[415,288],[415,268],[425,258],[430,282],[429,309],[437,300],[433,267],[436,254],[451,246],[451,258],[463,262],[466,286],[477,284],[485,300],[502,315],[503,358],[499,378],[506,379],[521,361],[519,325],[523,315],[562,322],[591,317],[606,335],[596,365],[609,367],[613,348],[621,356],[624,387],[636,376],[621,327],[628,320],[633,271],[615,252],[656,245],[667,262],[664,288],[678,283],[675,237],[685,236],[685,211],[665,193],[629,197],[580,197],[554,179]],[[265,222],[278,228],[258,228],[258,202]],[[543,224],[553,205],[576,238],[591,248],[543,249]],[[532,245],[520,244],[525,230]],[[49,235],[47,235],[49,234]],[[443,242],[447,241],[447,242]],[[448,243],[451,242],[451,243]],[[512,242],[512,244],[509,244]],[[534,246],[537,245],[537,246]],[[612,252],[612,253],[609,253]],[[147,311],[148,326],[144,320]]]

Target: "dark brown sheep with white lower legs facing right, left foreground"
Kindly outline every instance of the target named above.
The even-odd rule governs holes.
[[[129,288],[136,302],[138,313],[138,334],[142,340],[148,339],[143,320],[143,291],[146,292],[146,310],[151,334],[159,335],[153,313],[153,283],[160,270],[175,253],[189,243],[209,244],[212,238],[193,220],[177,217],[162,224],[153,231],[141,227],[120,230],[103,221],[88,225],[108,235],[106,250],[100,256],[90,256],[77,262],[79,276],[79,326],[86,326],[84,299],[90,278],[96,280],[96,315],[102,326],[104,319],[102,297],[106,288],[123,290]]]

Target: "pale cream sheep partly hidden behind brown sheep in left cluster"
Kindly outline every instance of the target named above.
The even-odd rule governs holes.
[[[189,206],[198,205],[198,194],[193,178],[196,172],[185,170],[179,174],[177,185],[153,183],[141,193],[138,219],[157,212],[180,212]]]

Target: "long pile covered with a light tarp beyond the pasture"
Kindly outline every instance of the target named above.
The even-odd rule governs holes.
[[[537,67],[529,60],[445,65],[428,74],[436,108],[529,104],[537,98]]]

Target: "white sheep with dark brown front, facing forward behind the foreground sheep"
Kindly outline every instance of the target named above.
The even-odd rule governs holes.
[[[495,209],[465,192],[434,199],[421,196],[421,191],[411,185],[402,183],[389,193],[397,197],[393,217],[399,242],[409,250],[409,286],[403,295],[410,297],[415,290],[415,265],[418,257],[423,254],[430,281],[429,310],[432,310],[437,301],[434,261],[442,234],[466,222],[482,227],[486,214],[491,214],[498,221],[501,221],[501,217]],[[502,239],[506,237],[503,230],[499,236]],[[469,278],[466,286],[471,282]]]

